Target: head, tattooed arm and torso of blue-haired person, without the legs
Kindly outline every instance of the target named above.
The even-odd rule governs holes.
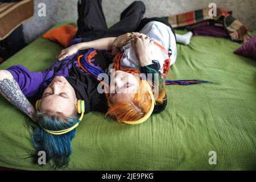
[[[98,64],[107,68],[108,59],[97,56],[101,57],[97,60],[105,60]],[[57,167],[67,165],[72,153],[71,140],[81,122],[77,119],[81,113],[79,102],[84,102],[85,114],[108,110],[102,105],[106,97],[97,92],[99,82],[81,71],[73,57],[56,61],[44,72],[30,72],[23,65],[0,71],[0,93],[38,123],[31,135],[32,143],[36,151],[46,152],[47,162],[52,159]],[[29,100],[37,101],[37,109]]]

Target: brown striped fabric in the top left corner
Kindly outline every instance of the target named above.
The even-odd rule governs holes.
[[[0,40],[5,39],[34,15],[34,1],[23,0],[19,2],[0,3]]]

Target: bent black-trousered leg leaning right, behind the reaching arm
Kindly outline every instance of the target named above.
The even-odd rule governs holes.
[[[137,30],[146,7],[141,1],[134,1],[121,14],[120,22],[114,24],[108,30],[108,36],[119,36],[127,32]]]

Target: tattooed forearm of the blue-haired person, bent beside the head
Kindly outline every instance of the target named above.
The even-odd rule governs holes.
[[[18,107],[23,113],[27,114],[33,121],[35,109],[20,90],[18,82],[14,80],[9,71],[0,70],[0,93],[11,104]]]

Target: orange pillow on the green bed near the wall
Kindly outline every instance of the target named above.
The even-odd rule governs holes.
[[[62,46],[67,47],[68,43],[73,40],[76,35],[77,27],[72,26],[71,24],[66,24],[59,28],[54,28],[46,32],[43,35],[43,38],[52,40],[53,42],[58,42]]]

